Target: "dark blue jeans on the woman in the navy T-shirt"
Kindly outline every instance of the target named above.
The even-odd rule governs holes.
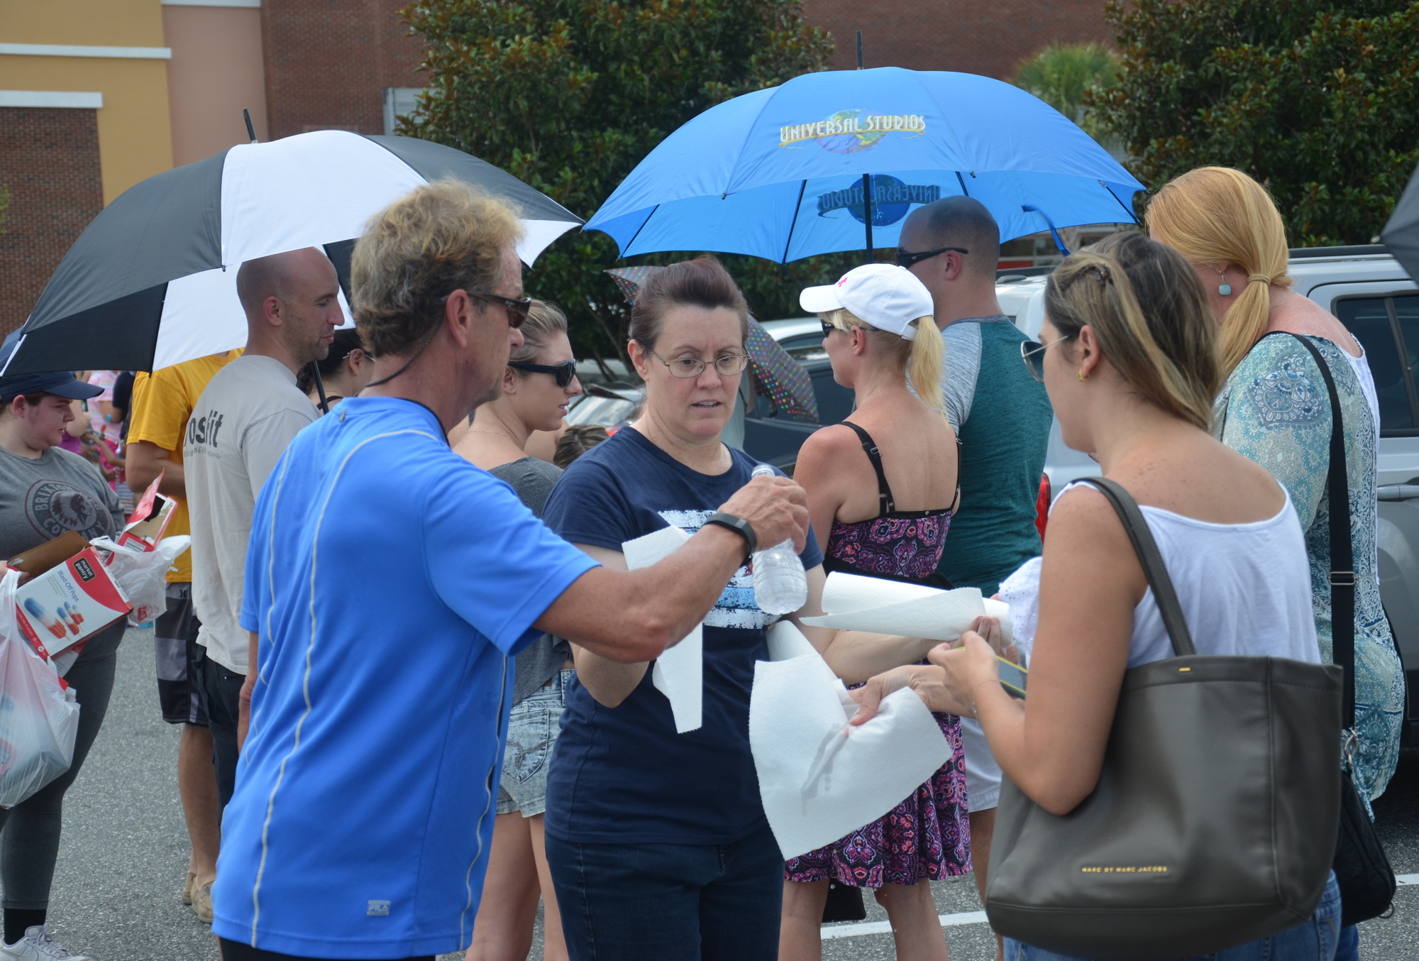
[[[775,961],[783,856],[732,845],[576,845],[546,835],[572,961]]]

